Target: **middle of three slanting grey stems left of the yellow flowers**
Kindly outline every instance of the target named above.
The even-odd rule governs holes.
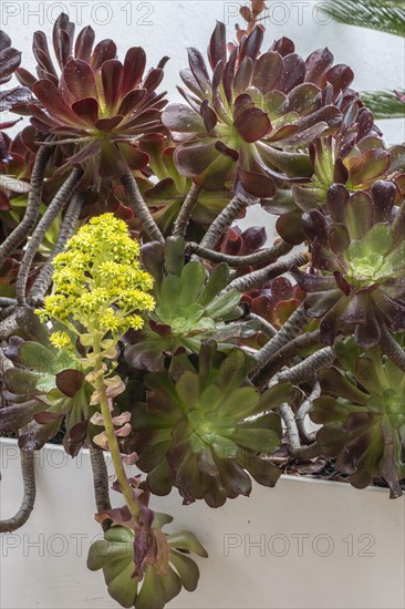
[[[83,169],[75,168],[72,171],[71,175],[69,176],[66,182],[63,184],[63,186],[59,189],[51,205],[48,207],[46,211],[38,223],[38,226],[25,249],[24,256],[21,261],[20,270],[17,277],[15,292],[17,292],[17,300],[19,304],[25,303],[25,289],[27,289],[28,276],[31,269],[32,261],[38,251],[38,248],[42,244],[42,240],[45,236],[46,230],[49,230],[54,219],[58,217],[60,211],[70,200],[82,175],[83,175]]]

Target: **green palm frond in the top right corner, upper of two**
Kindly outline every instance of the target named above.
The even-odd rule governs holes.
[[[404,0],[330,0],[321,10],[340,23],[405,37]]]

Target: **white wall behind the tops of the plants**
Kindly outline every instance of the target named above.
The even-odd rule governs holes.
[[[177,100],[178,71],[187,65],[186,48],[193,45],[205,51],[216,20],[228,24],[231,39],[235,24],[242,24],[238,9],[246,3],[224,0],[3,0],[0,24],[13,44],[23,51],[23,65],[33,69],[34,60],[30,54],[33,32],[42,29],[50,33],[59,12],[68,11],[77,24],[91,23],[97,37],[114,38],[121,54],[131,45],[142,45],[149,65],[156,64],[160,56],[169,55],[164,85],[169,99]],[[328,22],[319,11],[321,4],[316,0],[268,1],[268,7],[273,9],[266,21],[266,44],[285,35],[295,41],[297,50],[303,56],[314,49],[329,47],[336,62],[347,63],[354,70],[354,87],[405,89],[403,39]],[[405,121],[382,121],[381,127],[388,143],[405,140]],[[268,215],[261,214],[260,218],[268,224]],[[252,220],[250,214],[248,221],[259,221],[259,216],[255,213]]]

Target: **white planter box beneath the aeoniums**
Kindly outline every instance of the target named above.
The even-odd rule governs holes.
[[[0,448],[4,518],[22,485],[15,442],[1,440]],[[25,527],[1,536],[0,607],[117,607],[102,574],[85,566],[101,530],[87,452],[72,461],[46,446],[37,465],[35,509]],[[116,493],[112,498],[120,504]],[[405,607],[405,506],[383,489],[284,476],[277,488],[255,486],[249,499],[217,510],[180,503],[175,492],[152,506],[175,516],[173,530],[194,530],[209,559],[198,559],[197,591],[183,592],[170,609]]]

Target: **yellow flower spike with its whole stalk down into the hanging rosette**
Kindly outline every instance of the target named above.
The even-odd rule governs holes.
[[[86,381],[94,389],[91,404],[96,406],[96,412],[92,422],[102,430],[93,437],[93,442],[110,451],[116,489],[125,499],[123,508],[106,510],[104,515],[97,516],[100,522],[112,517],[115,526],[121,527],[121,535],[132,539],[133,560],[129,570],[135,579],[128,577],[131,560],[127,560],[125,569],[118,568],[121,574],[123,570],[127,572],[122,581],[123,588],[113,592],[113,596],[124,607],[134,603],[137,608],[163,607],[181,589],[181,579],[175,576],[168,565],[170,548],[160,529],[153,527],[154,515],[147,507],[144,492],[138,489],[138,479],[128,478],[124,469],[118,438],[131,433],[131,413],[114,415],[114,398],[125,391],[121,376],[114,374],[117,344],[129,329],[142,328],[143,311],[154,309],[154,299],[148,293],[153,278],[141,268],[139,245],[131,238],[125,223],[112,214],[93,218],[83,226],[69,240],[65,251],[56,256],[53,266],[52,295],[45,298],[43,309],[37,312],[43,321],[52,323],[55,320],[66,328],[66,331],[59,330],[51,334],[53,345],[73,350],[73,336],[85,350],[79,363],[86,374]],[[114,539],[115,526],[110,534]],[[93,549],[94,553],[96,549]],[[202,549],[199,550],[201,553]],[[111,559],[113,561],[112,555]],[[187,571],[187,568],[193,567],[186,565],[184,568]],[[105,572],[105,577],[111,586],[112,577],[108,574]],[[152,590],[159,574],[165,593],[157,605]],[[144,576],[144,586],[142,589],[139,586],[138,592]],[[168,588],[165,587],[166,582],[169,584]]]

